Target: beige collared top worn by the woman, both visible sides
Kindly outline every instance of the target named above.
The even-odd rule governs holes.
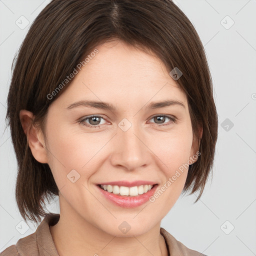
[[[0,256],[59,256],[49,229],[49,226],[56,224],[58,220],[59,214],[46,214],[34,233],[20,238],[15,245],[10,245],[0,252]],[[187,248],[162,227],[160,233],[164,237],[168,255],[206,256]]]

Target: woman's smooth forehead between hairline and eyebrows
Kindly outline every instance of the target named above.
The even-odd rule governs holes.
[[[130,106],[164,98],[186,105],[184,92],[158,57],[118,40],[95,48],[98,53],[75,75],[60,100],[89,98]]]

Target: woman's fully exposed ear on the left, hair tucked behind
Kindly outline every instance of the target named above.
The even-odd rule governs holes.
[[[33,113],[22,109],[19,111],[19,119],[24,133],[26,134],[32,155],[38,162],[47,163],[46,147],[42,132],[32,124],[34,119]]]

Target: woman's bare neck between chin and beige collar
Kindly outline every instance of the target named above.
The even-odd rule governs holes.
[[[74,216],[61,213],[59,221],[50,226],[59,256],[168,255],[165,240],[160,234],[160,223],[146,233],[124,237],[111,235],[85,219]]]

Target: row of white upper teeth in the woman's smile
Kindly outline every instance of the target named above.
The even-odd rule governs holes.
[[[139,194],[146,193],[151,190],[152,185],[139,185],[139,186],[117,186],[117,185],[100,185],[101,188],[109,193],[119,194],[119,195],[131,195],[136,196]]]

